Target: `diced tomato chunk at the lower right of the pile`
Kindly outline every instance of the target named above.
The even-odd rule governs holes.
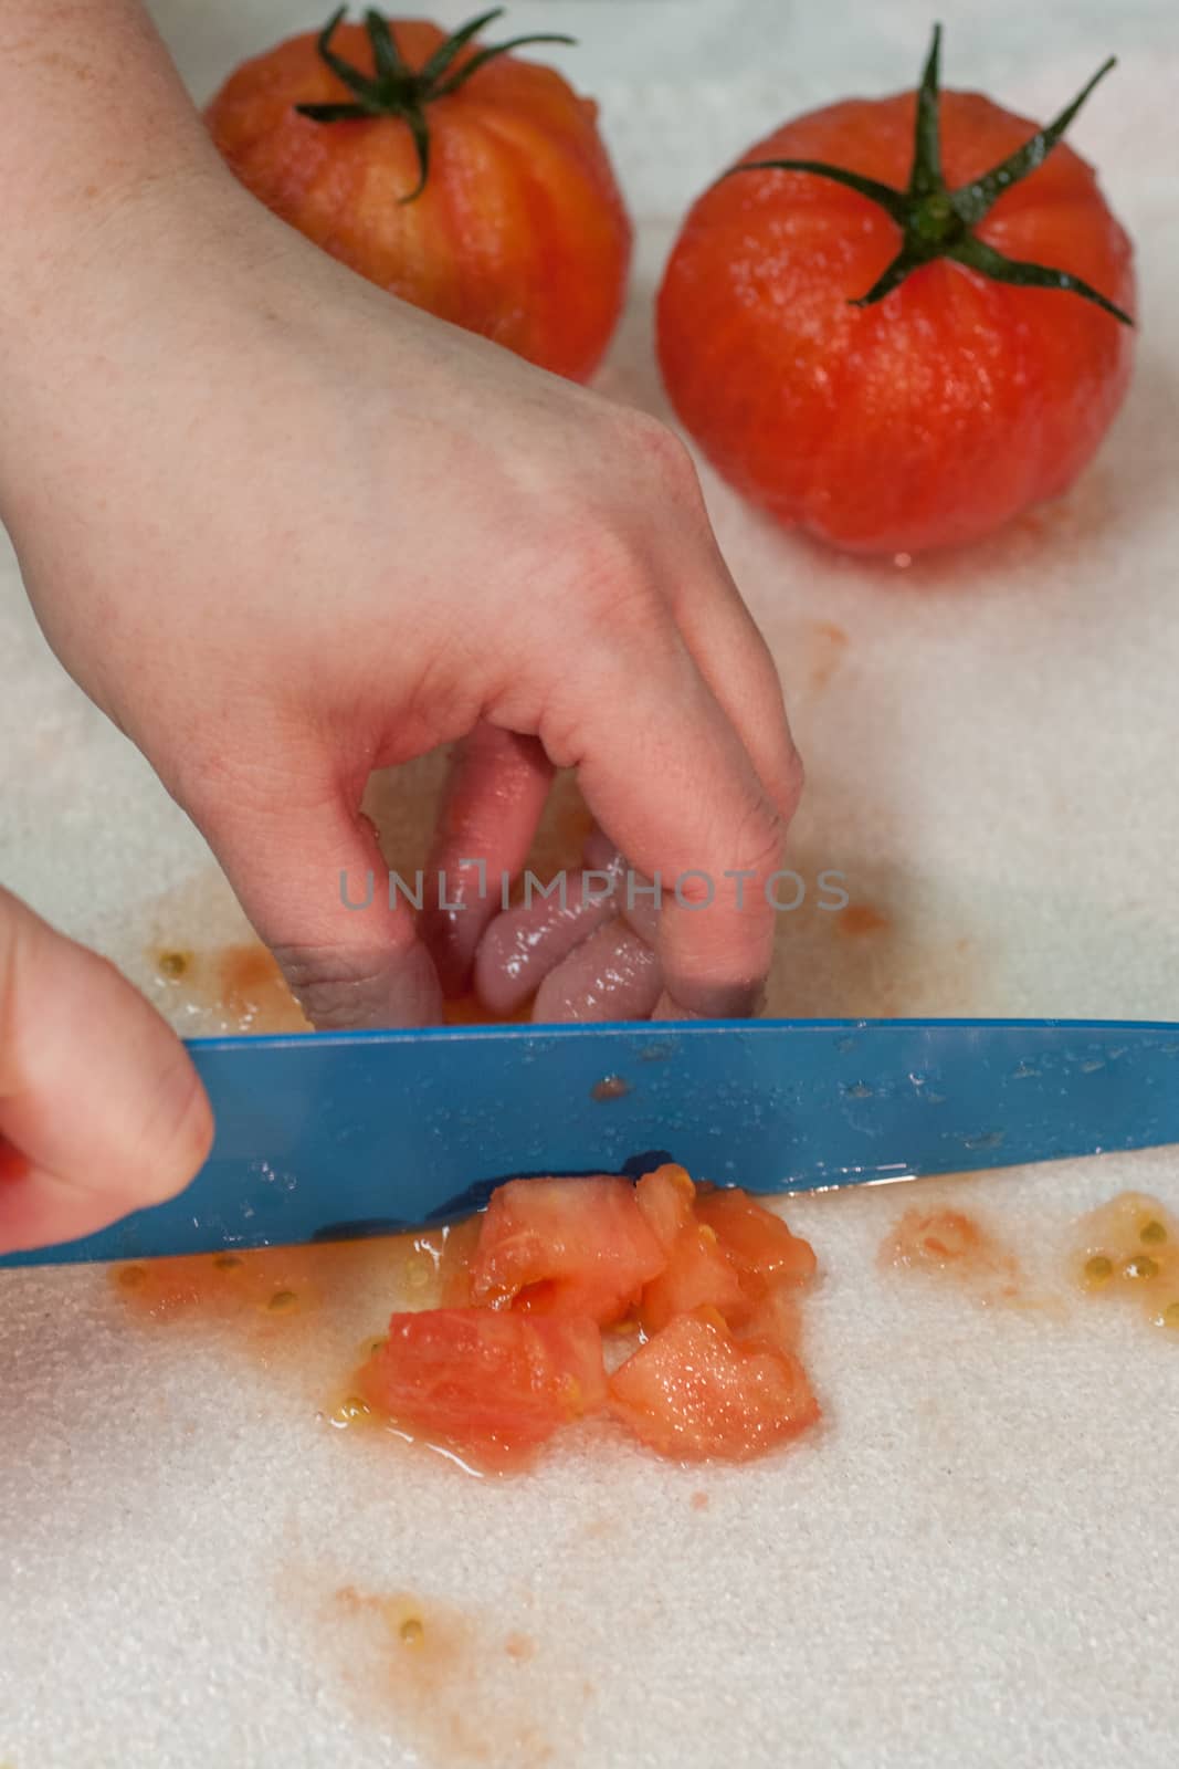
[[[790,1352],[739,1344],[712,1309],[677,1314],[610,1378],[612,1412],[661,1456],[746,1461],[818,1419]]]

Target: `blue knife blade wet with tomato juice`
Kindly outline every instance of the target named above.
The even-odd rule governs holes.
[[[194,1038],[217,1120],[179,1198],[5,1265],[392,1233],[514,1175],[682,1162],[815,1191],[1179,1143],[1179,1026],[702,1021]]]

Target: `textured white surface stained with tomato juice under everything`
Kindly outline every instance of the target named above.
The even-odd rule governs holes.
[[[605,96],[642,223],[603,377],[620,398],[665,410],[650,295],[695,191],[781,115],[909,85],[930,23],[914,0],[792,12],[513,7],[513,28],[583,39],[560,60]],[[887,923],[850,941],[790,918],[774,1007],[1174,1017],[1179,21],[1144,0],[940,12],[949,83],[969,69],[1029,113],[1121,53],[1076,142],[1138,239],[1138,373],[1075,492],[958,561],[825,555],[707,479],[808,759],[795,863],[841,867]],[[159,16],[198,96],[320,21],[293,0],[166,0]],[[230,938],[205,849],[48,656],[7,554],[0,658],[0,877],[141,982],[157,929]],[[1179,1206],[1172,1155],[923,1194],[969,1201],[1050,1267],[1068,1222],[1130,1183]],[[493,1764],[539,1760],[537,1739],[560,1765],[1174,1762],[1179,1352],[1084,1307],[985,1311],[880,1275],[909,1201],[792,1206],[825,1272],[810,1343],[827,1424],[744,1472],[681,1474],[619,1445],[490,1486],[341,1440],[315,1408],[332,1357],[380,1327],[380,1286],[329,1323],[339,1344],[300,1380],[226,1332],[136,1329],[101,1274],[5,1274],[0,1764],[474,1760],[453,1714],[475,1716]],[[458,1606],[468,1642],[433,1693],[385,1688],[364,1619],[332,1606],[341,1585]],[[504,1656],[513,1629],[536,1658]],[[361,1700],[350,1675],[378,1693]],[[532,1746],[514,1742],[529,1728]]]

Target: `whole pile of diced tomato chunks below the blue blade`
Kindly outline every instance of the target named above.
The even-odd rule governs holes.
[[[663,1166],[511,1180],[447,1244],[445,1307],[398,1313],[361,1373],[398,1429],[484,1470],[610,1413],[661,1456],[742,1461],[818,1419],[797,1357],[811,1247]],[[636,1346],[612,1375],[603,1332]]]

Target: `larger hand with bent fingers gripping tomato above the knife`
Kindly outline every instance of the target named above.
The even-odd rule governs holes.
[[[392,301],[196,161],[49,258],[0,363],[0,511],[55,651],[320,1026],[430,1021],[431,953],[451,989],[470,971],[470,879],[424,943],[359,814],[373,768],[468,734],[435,865],[518,870],[574,766],[636,870],[716,883],[659,918],[665,989],[746,1012],[801,770],[686,451]],[[373,907],[346,909],[341,874],[359,893],[369,870]]]

